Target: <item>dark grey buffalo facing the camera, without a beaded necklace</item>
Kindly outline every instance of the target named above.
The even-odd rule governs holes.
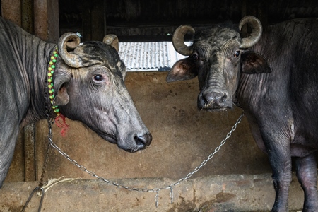
[[[251,33],[241,37],[246,23]],[[292,157],[305,192],[303,211],[318,211],[318,19],[288,20],[263,30],[257,18],[246,16],[236,28],[179,27],[174,46],[189,57],[175,63],[167,81],[198,76],[201,110],[240,102],[257,145],[269,155],[276,190],[272,211],[288,210]],[[184,45],[185,33],[194,33],[190,47]]]

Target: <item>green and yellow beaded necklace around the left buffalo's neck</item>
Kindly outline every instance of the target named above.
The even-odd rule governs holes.
[[[49,67],[47,68],[47,87],[49,88],[49,100],[52,105],[52,109],[54,110],[55,114],[57,114],[57,117],[59,117],[59,108],[58,106],[53,105],[53,99],[54,99],[54,84],[53,84],[53,73],[55,69],[55,63],[57,62],[57,57],[59,57],[59,52],[57,51],[57,48],[54,50],[52,56],[49,59]]]

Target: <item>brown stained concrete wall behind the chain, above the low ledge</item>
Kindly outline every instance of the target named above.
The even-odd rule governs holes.
[[[65,137],[54,124],[54,142],[73,160],[103,177],[184,177],[220,145],[242,110],[200,112],[196,108],[197,80],[168,84],[166,75],[163,72],[136,72],[128,73],[126,77],[126,87],[153,134],[153,142],[146,150],[138,153],[122,151],[83,124],[69,119],[66,119],[69,131]],[[47,148],[47,122],[43,120],[36,126],[39,179]],[[13,163],[13,166],[17,164]],[[10,170],[10,176],[17,175],[15,169]],[[225,146],[196,173],[196,177],[265,172],[271,172],[266,155],[257,148],[243,118]],[[49,178],[92,178],[54,149],[49,153],[46,174]]]

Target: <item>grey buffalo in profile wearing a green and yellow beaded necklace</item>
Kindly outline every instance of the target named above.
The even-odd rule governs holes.
[[[83,122],[125,151],[139,151],[151,143],[151,134],[124,86],[126,67],[117,53],[118,39],[113,35],[104,40],[79,45],[79,37],[67,33],[55,45],[0,17],[0,187],[19,129],[46,118],[47,69],[56,47],[53,104],[61,114]],[[49,116],[54,117],[46,100]]]

